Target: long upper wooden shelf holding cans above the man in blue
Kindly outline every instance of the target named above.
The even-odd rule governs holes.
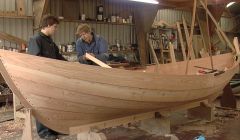
[[[104,22],[104,21],[83,21],[83,20],[73,20],[73,19],[61,19],[60,21],[65,22],[79,22],[79,23],[95,23],[95,24],[110,24],[110,25],[126,25],[134,26],[132,23],[113,23],[113,22]]]

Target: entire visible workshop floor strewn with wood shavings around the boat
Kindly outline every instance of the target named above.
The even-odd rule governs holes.
[[[218,101],[215,103],[219,104]],[[240,99],[238,99],[240,108]],[[0,111],[0,140],[20,140],[24,120],[5,121],[13,118],[11,111]],[[170,136],[155,136],[136,127],[116,127],[103,130],[108,140],[193,140],[194,137],[204,135],[207,140],[239,140],[240,111],[216,109],[216,119],[213,122],[203,120],[189,120],[185,112],[176,112],[171,117],[172,139]],[[34,128],[34,137],[39,140]],[[175,138],[175,139],[174,139]],[[76,140],[76,136],[61,136],[60,140]]]

